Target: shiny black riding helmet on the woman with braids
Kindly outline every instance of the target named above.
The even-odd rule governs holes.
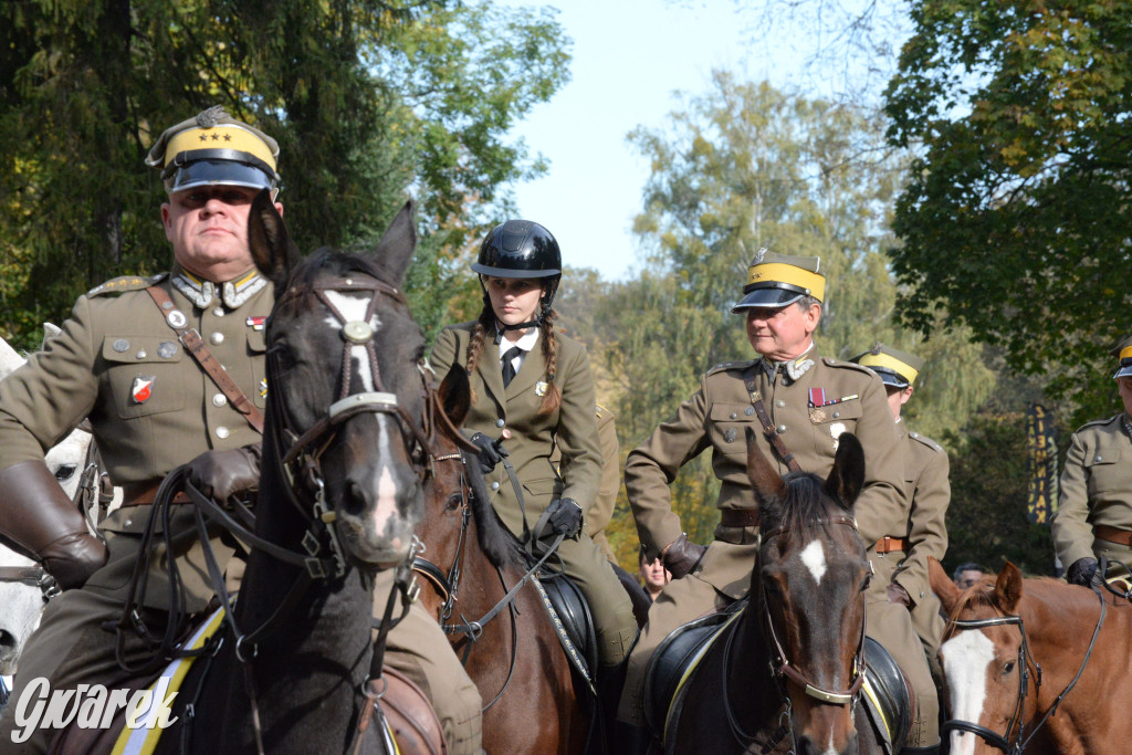
[[[472,271],[480,275],[483,304],[491,306],[483,278],[496,277],[549,278],[542,294],[539,315],[530,323],[505,325],[505,331],[520,331],[541,326],[554,303],[558,282],[563,276],[563,255],[558,241],[544,226],[532,221],[507,221],[496,225],[480,244],[480,254],[472,263]]]

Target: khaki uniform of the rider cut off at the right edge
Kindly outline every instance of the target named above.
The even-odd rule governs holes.
[[[1061,506],[1050,520],[1054,548],[1065,567],[1108,556],[1132,567],[1132,548],[1101,538],[1097,527],[1132,532],[1132,439],[1124,413],[1078,429],[1061,475]],[[1109,574],[1120,569],[1114,567]]]

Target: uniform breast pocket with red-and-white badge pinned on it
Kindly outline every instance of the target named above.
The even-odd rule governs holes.
[[[108,336],[102,343],[102,358],[121,419],[180,411],[194,381],[200,380],[197,370],[185,369],[185,349],[172,334]]]

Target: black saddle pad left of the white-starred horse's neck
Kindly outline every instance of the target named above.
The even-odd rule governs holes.
[[[743,615],[740,601],[721,614],[704,616],[674,629],[649,659],[644,675],[644,719],[649,729],[663,737],[668,719],[685,681],[695,671],[700,659],[735,619]]]

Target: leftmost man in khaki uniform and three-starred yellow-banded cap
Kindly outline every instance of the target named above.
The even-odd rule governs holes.
[[[41,560],[65,589],[19,659],[12,710],[38,677],[52,692],[130,678],[103,624],[121,619],[149,505],[171,470],[191,462],[191,478],[220,500],[258,482],[261,430],[251,418],[265,405],[263,321],[273,290],[251,260],[247,226],[256,194],[278,190],[277,154],[274,139],[220,106],[165,131],[146,163],[161,171],[169,195],[161,218],[171,272],[114,278],[79,297],[62,332],[0,381],[0,538]],[[178,333],[186,328],[200,335],[257,412],[238,411],[235,396],[186,351]],[[87,531],[43,463],[44,451],[86,417],[111,479],[125,490],[122,507],[100,523],[105,541]],[[199,614],[213,590],[191,506],[173,506],[170,527],[188,533],[174,558],[185,610]],[[224,568],[232,550],[218,538],[211,546]],[[130,663],[152,658],[151,642],[169,625],[171,587],[158,550],[138,609],[153,641],[126,627]],[[0,719],[0,748],[12,741],[14,718]],[[52,733],[36,730],[20,752],[44,750]]]

